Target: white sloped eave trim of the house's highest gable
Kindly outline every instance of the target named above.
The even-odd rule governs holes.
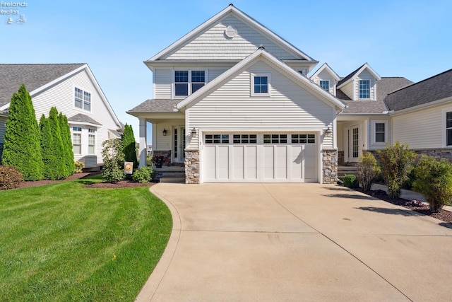
[[[220,11],[220,13],[217,13],[215,16],[213,16],[212,18],[208,19],[208,21],[202,23],[201,25],[199,25],[194,30],[191,30],[190,33],[187,33],[186,35],[181,37],[179,40],[177,40],[176,42],[172,43],[172,45],[169,45],[169,47],[167,47],[164,50],[162,50],[161,52],[155,54],[155,56],[151,57],[146,62],[151,62],[151,61],[156,61],[156,60],[162,59],[162,57],[165,57],[165,55],[173,52],[174,50],[177,50],[178,47],[181,47],[182,45],[186,44],[193,37],[196,37],[196,35],[202,33],[203,30],[206,30],[207,28],[210,28],[210,26],[214,25],[215,23],[220,21],[222,18],[225,18],[225,16],[227,16],[230,13],[234,14],[234,16],[236,16],[237,18],[239,18],[240,20],[242,20],[242,21],[244,21],[246,23],[251,23],[251,25],[254,25],[254,27],[257,30],[259,30],[261,33],[263,33],[267,37],[270,37],[271,40],[274,40],[279,45],[282,45],[286,50],[289,50],[290,52],[295,54],[300,59],[304,59],[304,60],[307,60],[307,61],[314,61],[315,62],[315,60],[312,59],[311,57],[309,57],[307,54],[305,54],[304,52],[299,50],[297,47],[295,47],[292,44],[290,44],[290,42],[287,42],[286,40],[284,40],[279,35],[276,35],[275,33],[273,33],[271,30],[266,28],[261,23],[258,23],[258,21],[254,20],[254,18],[251,18],[250,16],[246,15],[246,13],[240,11],[233,4],[230,4],[225,9]]]

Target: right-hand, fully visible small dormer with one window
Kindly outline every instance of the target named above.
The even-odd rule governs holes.
[[[338,83],[338,89],[351,100],[376,100],[376,81],[379,74],[365,63]]]

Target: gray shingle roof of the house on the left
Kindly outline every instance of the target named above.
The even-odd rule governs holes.
[[[23,83],[34,91],[85,64],[0,64],[0,106],[11,102]]]

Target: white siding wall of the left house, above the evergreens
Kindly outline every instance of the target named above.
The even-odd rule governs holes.
[[[80,88],[91,94],[91,111],[76,108],[74,104],[74,91],[75,88]],[[117,124],[105,105],[100,91],[97,91],[95,84],[91,81],[88,72],[82,69],[77,74],[73,74],[68,79],[57,83],[56,85],[47,88],[44,91],[32,95],[32,102],[36,112],[36,118],[39,121],[42,114],[46,117],[49,116],[49,110],[52,107],[56,107],[58,112],[63,112],[68,119],[81,113],[91,117],[93,120],[102,124],[102,126],[86,126],[78,125],[82,127],[82,154],[74,155],[74,159],[86,161],[85,167],[96,166],[102,164],[102,142],[109,139],[108,129],[117,130],[121,126]],[[72,131],[73,126],[70,122]],[[88,155],[88,127],[95,128],[95,154]]]

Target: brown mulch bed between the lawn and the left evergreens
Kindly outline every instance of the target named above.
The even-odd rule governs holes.
[[[37,181],[26,181],[26,182],[20,182],[19,187],[35,187],[37,185],[49,185],[52,183],[57,183],[57,182],[64,182],[67,180],[78,180],[78,179],[83,179],[87,176],[90,175],[97,175],[100,172],[94,172],[94,173],[76,173],[73,174],[71,176],[69,176],[68,178],[64,179],[64,180],[37,180]],[[101,188],[101,189],[105,189],[105,188],[113,188],[113,189],[118,189],[121,187],[150,187],[151,185],[155,185],[155,183],[153,182],[148,182],[148,183],[140,183],[140,182],[132,182],[131,180],[121,180],[117,183],[108,183],[108,182],[93,182],[93,184],[86,184],[84,185],[84,187],[92,187],[92,188]]]

